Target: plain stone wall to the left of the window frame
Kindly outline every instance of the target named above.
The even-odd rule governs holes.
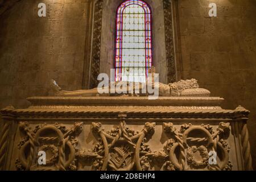
[[[47,17],[38,17],[40,2]],[[51,94],[51,78],[65,89],[81,89],[87,6],[84,0],[26,0],[1,14],[1,107],[26,107],[26,97]]]

